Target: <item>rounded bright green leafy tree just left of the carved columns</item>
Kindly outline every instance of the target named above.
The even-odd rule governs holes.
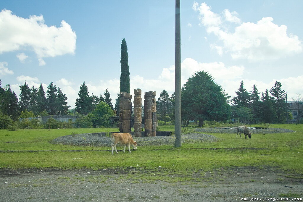
[[[92,120],[93,127],[109,127],[110,117],[114,115],[115,113],[112,108],[110,108],[105,102],[101,101],[97,104],[96,109],[88,114],[88,117]]]

